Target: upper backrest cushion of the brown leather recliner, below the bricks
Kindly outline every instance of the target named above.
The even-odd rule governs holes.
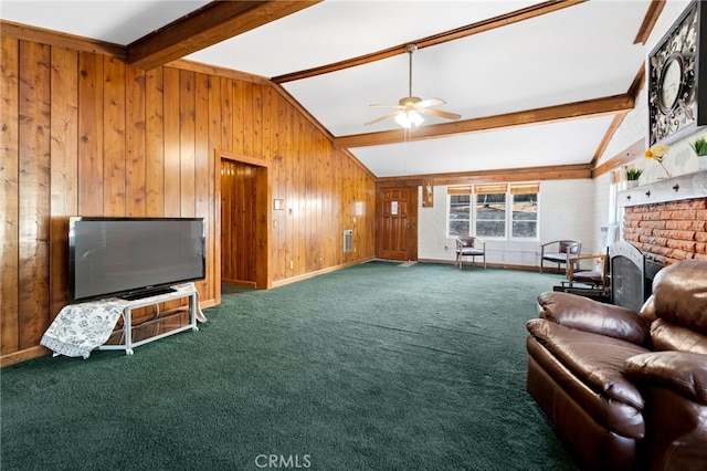
[[[707,262],[684,260],[653,280],[655,314],[707,335]]]

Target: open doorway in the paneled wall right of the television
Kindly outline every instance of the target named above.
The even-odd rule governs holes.
[[[217,237],[221,283],[270,287],[270,163],[218,153]],[[220,296],[219,296],[220,297]]]

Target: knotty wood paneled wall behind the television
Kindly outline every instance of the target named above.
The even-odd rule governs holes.
[[[219,151],[271,163],[273,198],[286,205],[270,224],[272,283],[374,257],[373,177],[274,86],[0,41],[3,364],[43,354],[67,301],[68,216],[205,218],[198,287],[203,304],[220,302]],[[354,253],[342,252],[345,229]]]

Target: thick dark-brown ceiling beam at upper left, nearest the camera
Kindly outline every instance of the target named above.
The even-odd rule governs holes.
[[[212,1],[128,44],[127,63],[155,69],[320,1]]]

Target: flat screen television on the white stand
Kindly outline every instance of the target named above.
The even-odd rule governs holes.
[[[204,278],[203,218],[70,218],[72,303],[135,300]]]

